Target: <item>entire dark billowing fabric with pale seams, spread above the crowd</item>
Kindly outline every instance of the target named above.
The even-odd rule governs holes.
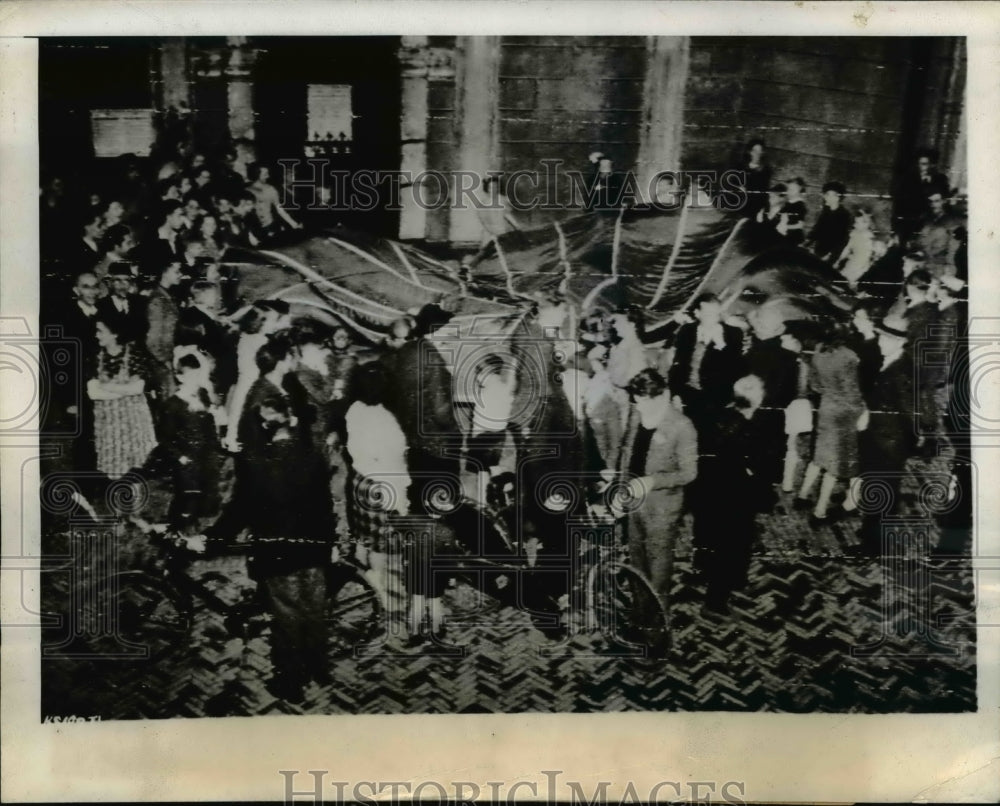
[[[787,319],[849,310],[830,266],[710,207],[585,213],[509,232],[474,266],[468,284],[420,249],[344,229],[291,233],[267,249],[231,248],[223,266],[239,278],[240,302],[284,299],[369,342],[428,303],[454,314],[455,337],[507,336],[531,300],[556,291],[580,312],[637,305],[666,316],[700,291],[721,295],[734,314],[779,299]]]

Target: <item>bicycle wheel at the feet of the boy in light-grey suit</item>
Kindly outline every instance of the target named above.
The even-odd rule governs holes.
[[[591,624],[630,655],[658,654],[667,645],[667,614],[645,577],[624,563],[601,562],[587,580]]]

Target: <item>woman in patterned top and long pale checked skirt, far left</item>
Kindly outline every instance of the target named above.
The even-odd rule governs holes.
[[[145,395],[149,362],[140,345],[122,339],[114,322],[98,321],[96,328],[100,349],[87,395],[94,401],[97,469],[118,479],[142,467],[156,447]]]

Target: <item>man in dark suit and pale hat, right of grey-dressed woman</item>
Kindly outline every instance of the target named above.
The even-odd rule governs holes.
[[[867,428],[860,434],[861,500],[888,500],[884,510],[865,515],[861,522],[860,550],[868,555],[878,554],[881,548],[882,518],[899,506],[903,471],[915,444],[913,355],[905,326],[889,318],[878,326],[882,366],[867,401]]]

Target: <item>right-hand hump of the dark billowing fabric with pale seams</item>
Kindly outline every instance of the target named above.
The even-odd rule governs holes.
[[[788,298],[789,318],[846,311],[839,274],[785,243],[712,207],[586,213],[500,236],[475,266],[472,291],[506,300],[561,288],[585,308],[638,305],[654,315],[700,291],[731,299],[733,313],[778,297]]]

